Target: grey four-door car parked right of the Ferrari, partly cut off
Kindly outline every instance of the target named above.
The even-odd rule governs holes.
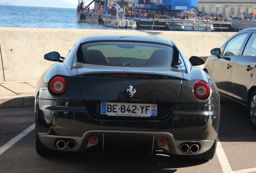
[[[248,107],[256,129],[256,28],[237,32],[211,54],[204,71],[213,78],[220,95]]]

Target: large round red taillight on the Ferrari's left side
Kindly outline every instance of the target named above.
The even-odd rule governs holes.
[[[55,94],[62,94],[67,89],[67,83],[62,77],[55,77],[50,82],[50,89]]]

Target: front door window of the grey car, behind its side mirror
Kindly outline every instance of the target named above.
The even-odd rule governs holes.
[[[223,51],[223,55],[238,55],[239,49],[241,48],[247,35],[248,33],[240,34],[229,40]]]

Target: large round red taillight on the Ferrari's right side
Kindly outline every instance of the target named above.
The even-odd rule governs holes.
[[[197,81],[194,84],[193,93],[196,99],[204,100],[210,95],[210,87],[203,81]]]

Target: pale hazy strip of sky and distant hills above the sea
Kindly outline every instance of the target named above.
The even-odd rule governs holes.
[[[57,8],[76,8],[77,4],[71,4],[63,0],[0,0],[1,5],[17,6],[40,6],[40,7],[57,7]]]

